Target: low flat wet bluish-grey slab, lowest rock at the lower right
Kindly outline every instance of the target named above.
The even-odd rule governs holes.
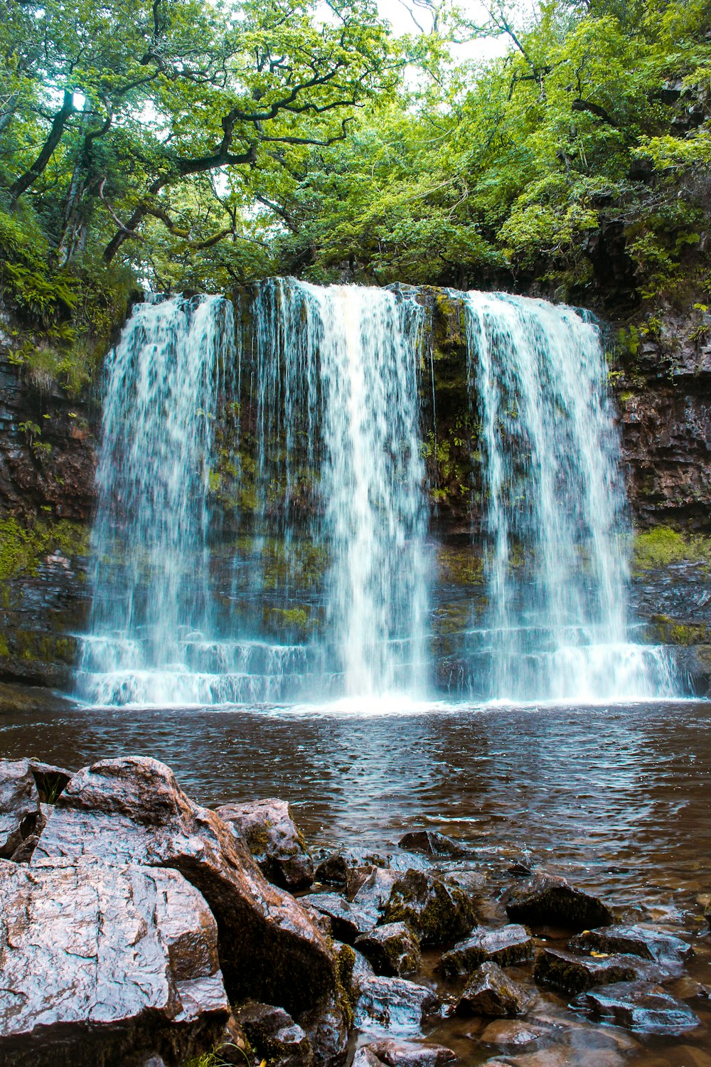
[[[641,1034],[684,1034],[700,1024],[688,1004],[649,983],[618,982],[591,989],[570,1006]]]

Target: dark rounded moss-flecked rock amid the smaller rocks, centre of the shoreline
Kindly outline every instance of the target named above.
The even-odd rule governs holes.
[[[470,930],[475,915],[458,886],[424,871],[408,871],[392,887],[385,920],[407,923],[422,944],[440,944]]]

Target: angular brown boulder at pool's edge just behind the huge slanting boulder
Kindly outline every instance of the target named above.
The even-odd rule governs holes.
[[[313,861],[286,800],[226,803],[216,814],[242,838],[269,881],[290,891],[308,889]]]

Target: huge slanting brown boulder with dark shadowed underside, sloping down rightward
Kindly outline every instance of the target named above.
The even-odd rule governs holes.
[[[334,954],[292,896],[271,886],[246,847],[212,811],[193,803],[169,767],[129,757],[74,776],[58,797],[32,865],[42,859],[174,867],[205,896],[217,921],[220,958],[231,999],[256,997],[300,1013],[339,1016]],[[345,1041],[341,1022],[340,1054]],[[313,1034],[309,1033],[313,1044]],[[316,1048],[316,1046],[314,1046]]]

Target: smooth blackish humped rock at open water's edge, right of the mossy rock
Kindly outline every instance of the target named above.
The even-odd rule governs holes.
[[[572,929],[611,926],[615,921],[610,908],[597,896],[575,889],[560,875],[546,872],[511,887],[506,914],[514,922]]]

